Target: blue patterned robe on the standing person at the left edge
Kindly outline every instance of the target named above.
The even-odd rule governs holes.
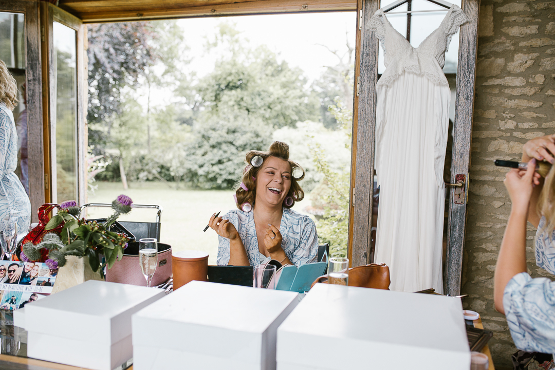
[[[17,131],[12,111],[0,104],[0,220],[17,217],[17,233],[27,232],[31,224],[31,202],[17,168]]]

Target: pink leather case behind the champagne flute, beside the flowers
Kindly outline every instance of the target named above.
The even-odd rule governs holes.
[[[150,282],[150,286],[157,286],[171,277],[171,246],[158,243],[158,266]],[[112,268],[106,270],[106,281],[147,286],[147,279],[139,265],[139,243],[130,242],[124,251],[121,261],[115,261]]]

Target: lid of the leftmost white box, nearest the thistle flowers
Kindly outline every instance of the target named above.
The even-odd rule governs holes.
[[[131,315],[164,291],[89,280],[25,307],[29,332],[115,343],[131,334]]]

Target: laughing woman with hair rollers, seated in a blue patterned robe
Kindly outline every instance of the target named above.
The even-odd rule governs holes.
[[[274,141],[268,151],[246,154],[238,207],[210,217],[219,235],[218,265],[257,266],[273,259],[283,265],[316,262],[318,236],[309,216],[291,210],[304,198],[301,166],[289,159],[289,145]]]

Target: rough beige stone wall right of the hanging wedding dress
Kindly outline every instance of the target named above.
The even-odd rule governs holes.
[[[494,159],[521,158],[522,145],[555,133],[555,1],[482,0],[478,29],[476,100],[462,293],[482,313],[496,367],[511,368],[516,351],[507,322],[493,306],[493,272],[511,202],[506,169]],[[527,257],[535,265],[529,225]]]

